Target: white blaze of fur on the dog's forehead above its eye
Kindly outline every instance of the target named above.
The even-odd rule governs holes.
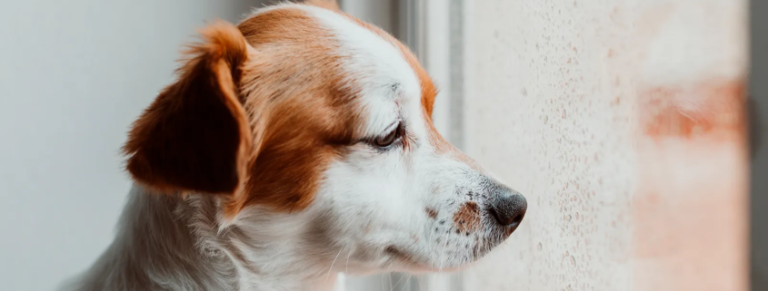
[[[308,7],[338,42],[346,81],[356,87],[364,115],[362,131],[381,133],[398,119],[421,115],[421,84],[402,46],[378,28],[350,16]],[[416,116],[414,116],[416,115]],[[410,123],[414,123],[413,121]]]

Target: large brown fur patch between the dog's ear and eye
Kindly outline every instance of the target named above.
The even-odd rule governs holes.
[[[251,204],[306,208],[324,170],[357,138],[355,92],[344,84],[333,35],[316,22],[287,8],[239,25],[256,55],[242,89],[258,154],[234,212]]]

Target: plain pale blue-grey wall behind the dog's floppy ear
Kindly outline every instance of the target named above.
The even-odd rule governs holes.
[[[0,289],[51,290],[113,239],[120,147],[181,44],[258,1],[0,2]]]

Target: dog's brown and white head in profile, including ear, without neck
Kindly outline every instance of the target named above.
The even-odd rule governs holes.
[[[523,196],[435,131],[433,82],[389,34],[309,5],[202,34],[125,145],[146,187],[365,271],[459,267],[520,224]]]

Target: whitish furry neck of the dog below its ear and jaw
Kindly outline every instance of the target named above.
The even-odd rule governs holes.
[[[254,243],[247,241],[252,236],[244,229],[220,231],[217,203],[210,197],[182,199],[135,186],[115,242],[68,289],[334,289],[336,274],[325,272],[322,260],[291,249],[290,242]],[[259,247],[243,246],[249,243]]]

